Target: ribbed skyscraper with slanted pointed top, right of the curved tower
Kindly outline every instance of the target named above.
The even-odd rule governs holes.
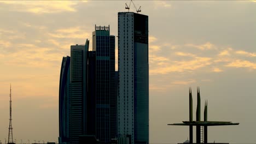
[[[87,124],[87,67],[89,40],[85,45],[71,45],[71,143],[86,135]]]

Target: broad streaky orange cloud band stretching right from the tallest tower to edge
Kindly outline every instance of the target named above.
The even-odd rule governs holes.
[[[154,38],[152,38],[154,39]],[[165,45],[165,46],[164,46]],[[254,63],[249,61],[236,61],[237,55],[255,57],[255,53],[237,50],[231,47],[220,47],[209,42],[202,45],[198,44],[173,44],[177,45],[179,49],[169,49],[172,45],[164,43],[160,45],[153,45],[149,47],[149,65],[150,75],[169,74],[169,73],[190,73],[194,70],[206,70],[213,73],[223,72],[228,67],[243,67],[253,68]],[[196,47],[191,50],[188,46]],[[162,55],[162,52],[165,54]],[[202,51],[211,50],[211,51]],[[191,52],[188,52],[191,51]],[[154,53],[152,53],[154,52]],[[196,55],[194,53],[197,53]],[[161,55],[161,56],[160,56]],[[178,57],[177,57],[178,56]],[[181,57],[185,57],[181,59]],[[246,57],[245,57],[246,58]],[[240,63],[238,63],[240,62]],[[208,67],[214,65],[214,67]],[[201,69],[205,68],[205,69]]]

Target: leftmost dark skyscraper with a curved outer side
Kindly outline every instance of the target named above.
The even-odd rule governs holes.
[[[63,57],[59,86],[59,143],[69,142],[70,57]]]

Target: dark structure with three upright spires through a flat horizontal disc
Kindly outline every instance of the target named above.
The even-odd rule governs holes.
[[[196,121],[193,121],[193,99],[191,88],[189,88],[189,121],[183,121],[183,123],[174,123],[167,125],[188,125],[189,126],[189,141],[186,143],[193,144],[193,126],[196,126],[196,143],[208,143],[208,129],[210,126],[219,125],[238,125],[239,123],[222,122],[222,121],[208,121],[207,119],[207,101],[205,102],[205,110],[203,111],[203,121],[201,121],[201,98],[200,89],[197,88],[197,106],[196,106]],[[217,143],[216,143],[217,144]],[[223,144],[223,143],[218,143]],[[225,143],[228,144],[228,143]]]

